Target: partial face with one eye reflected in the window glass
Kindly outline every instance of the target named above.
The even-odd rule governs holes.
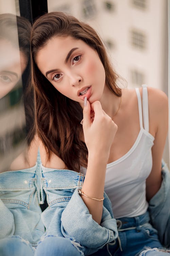
[[[0,41],[0,98],[17,84],[27,66],[26,57],[11,42]]]

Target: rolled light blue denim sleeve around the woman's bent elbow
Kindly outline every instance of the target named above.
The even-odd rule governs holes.
[[[101,248],[117,238],[116,220],[103,206],[101,224],[95,222],[80,197],[78,189],[75,189],[67,207],[62,212],[62,233],[63,235],[69,233],[71,237],[88,248]]]

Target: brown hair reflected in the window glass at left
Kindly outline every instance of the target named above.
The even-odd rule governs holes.
[[[31,80],[31,65],[30,65],[30,22],[20,16],[10,13],[0,15],[0,39],[5,39],[12,43],[14,47],[18,47],[26,58],[27,66],[22,73],[22,87],[23,87],[23,103],[26,114],[26,128],[27,144],[30,145],[35,136],[35,108],[34,108],[34,93]],[[20,81],[19,81],[20,83]],[[18,94],[20,88],[18,88]],[[21,131],[20,131],[21,132]]]

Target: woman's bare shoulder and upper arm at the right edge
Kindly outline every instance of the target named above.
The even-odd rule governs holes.
[[[146,181],[146,195],[149,201],[159,190],[162,182],[161,161],[168,132],[168,98],[163,91],[148,88],[150,127],[155,130],[152,147],[152,170]]]

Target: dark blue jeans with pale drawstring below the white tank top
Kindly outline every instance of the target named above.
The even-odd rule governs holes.
[[[157,236],[157,230],[149,224],[149,213],[137,217],[117,219],[119,237],[112,243],[106,244],[93,256],[137,256],[146,248],[162,248]],[[143,255],[170,255],[166,252],[147,251]]]

